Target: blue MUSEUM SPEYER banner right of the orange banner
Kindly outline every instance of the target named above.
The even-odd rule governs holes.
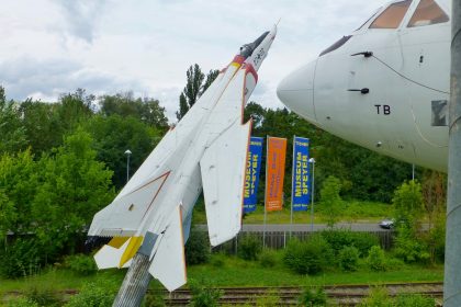
[[[294,137],[292,178],[291,202],[293,211],[306,211],[311,198],[308,138]]]

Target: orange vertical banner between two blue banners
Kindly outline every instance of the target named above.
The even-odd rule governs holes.
[[[281,211],[285,174],[286,138],[268,137],[266,160],[266,211]]]

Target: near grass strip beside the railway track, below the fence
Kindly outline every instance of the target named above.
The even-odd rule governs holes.
[[[370,272],[361,268],[358,272],[330,270],[324,274],[308,276],[292,273],[282,263],[283,251],[278,251],[273,268],[265,269],[258,261],[245,261],[236,257],[213,254],[207,264],[188,268],[189,281],[206,281],[218,287],[237,286],[308,286],[339,284],[380,284],[398,282],[440,282],[443,280],[443,268],[423,268],[404,265],[389,272]],[[363,265],[362,265],[363,266]],[[0,297],[11,292],[27,292],[31,288],[79,289],[86,283],[112,281],[121,284],[126,270],[100,271],[91,276],[79,276],[67,269],[50,269],[42,274],[19,280],[0,278]],[[158,281],[153,281],[151,288],[162,288]],[[0,299],[1,300],[1,299]]]

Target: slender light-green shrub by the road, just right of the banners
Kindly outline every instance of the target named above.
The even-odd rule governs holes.
[[[339,179],[333,175],[324,181],[321,190],[321,206],[323,206],[323,212],[326,215],[326,224],[330,228],[339,220],[342,212],[342,200],[339,196],[340,191],[341,183]]]

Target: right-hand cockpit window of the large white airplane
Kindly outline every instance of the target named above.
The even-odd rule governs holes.
[[[448,15],[434,0],[421,0],[408,22],[408,27],[448,22]]]

